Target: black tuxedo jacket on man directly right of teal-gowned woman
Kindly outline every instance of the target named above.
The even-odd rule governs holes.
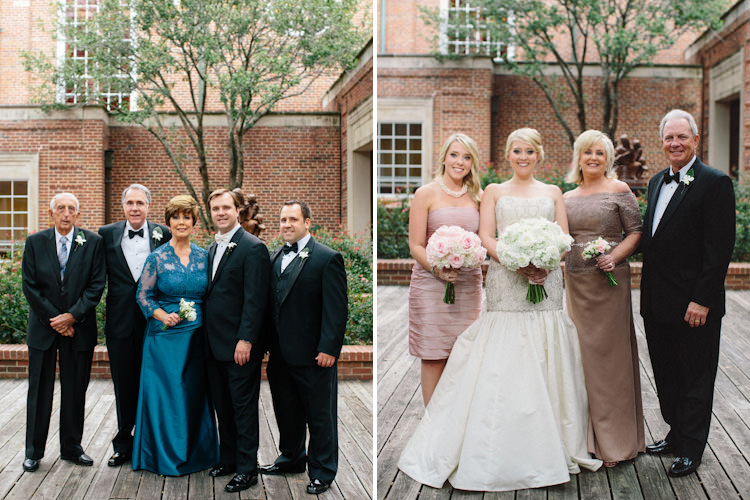
[[[264,354],[263,318],[271,275],[268,248],[242,228],[232,236],[231,243],[236,246],[224,251],[213,280],[216,243],[208,247],[203,324],[211,353],[219,361],[234,360],[238,340],[253,343],[251,357]]]

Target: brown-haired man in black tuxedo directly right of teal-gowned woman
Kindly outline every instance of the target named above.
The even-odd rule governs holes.
[[[208,249],[203,310],[220,445],[220,463],[209,474],[236,472],[224,487],[236,492],[258,482],[258,395],[270,260],[263,242],[240,226],[236,193],[216,190],[208,203],[218,233]]]

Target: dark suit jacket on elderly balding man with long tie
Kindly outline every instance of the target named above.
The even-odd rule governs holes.
[[[79,233],[86,240],[75,241]],[[74,323],[73,349],[88,351],[96,345],[96,305],[104,291],[104,245],[101,237],[78,226],[60,279],[55,228],[34,233],[26,239],[23,251],[23,293],[29,302],[26,344],[39,350],[51,348],[60,337],[50,325],[51,318],[69,312]]]

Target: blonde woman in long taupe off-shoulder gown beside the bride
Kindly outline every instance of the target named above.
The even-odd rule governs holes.
[[[565,259],[568,313],[578,329],[591,419],[588,449],[614,467],[645,451],[638,346],[630,303],[627,258],[638,246],[642,223],[638,202],[612,168],[615,149],[598,130],[575,142],[565,193],[570,235],[575,243]],[[623,234],[625,237],[623,238]],[[596,259],[581,256],[602,237],[611,250]],[[618,281],[609,286],[605,271]]]

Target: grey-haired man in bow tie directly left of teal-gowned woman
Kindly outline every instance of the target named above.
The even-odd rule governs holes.
[[[172,237],[166,226],[146,220],[150,205],[148,188],[131,184],[122,192],[125,220],[99,228],[99,235],[104,239],[109,285],[104,332],[117,403],[117,434],[112,440],[114,454],[107,462],[110,467],[129,462],[133,448],[146,329],[146,319],[135,300],[138,279],[148,254]]]

